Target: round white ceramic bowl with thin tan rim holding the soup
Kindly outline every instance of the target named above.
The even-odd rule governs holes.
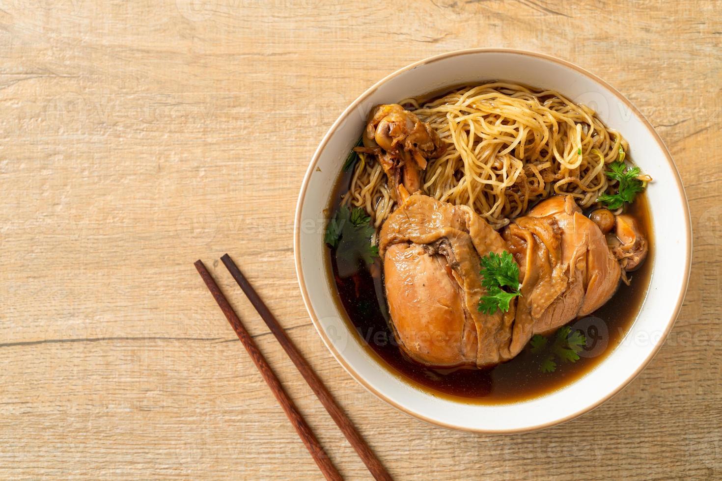
[[[654,178],[647,189],[655,240],[651,283],[622,343],[573,384],[533,400],[474,405],[434,397],[391,374],[344,322],[326,275],[323,244],[331,189],[370,109],[442,87],[502,79],[557,90],[596,110],[622,133],[630,155]],[[659,100],[663,102],[664,100]],[[370,392],[399,410],[446,428],[494,433],[531,431],[592,410],[625,387],[651,361],[677,319],[690,273],[692,230],[682,181],[650,123],[613,87],[571,63],[518,50],[461,50],[428,58],[386,77],[358,97],[331,125],[313,155],[298,198],[295,261],[308,313],[336,360]]]

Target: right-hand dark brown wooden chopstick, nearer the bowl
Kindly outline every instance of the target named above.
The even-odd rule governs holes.
[[[256,311],[258,311],[258,314],[260,314],[264,319],[264,322],[266,322],[266,325],[268,325],[271,332],[273,332],[273,335],[276,336],[276,339],[279,344],[282,345],[288,354],[288,357],[290,357],[291,361],[293,361],[296,365],[296,368],[300,371],[303,379],[306,380],[310,388],[313,389],[313,392],[316,393],[318,400],[321,401],[323,407],[326,407],[326,411],[329,412],[331,418],[334,419],[336,425],[339,426],[339,429],[341,429],[342,433],[344,433],[344,436],[346,436],[351,446],[353,446],[361,460],[364,464],[366,464],[366,467],[371,472],[371,475],[373,475],[373,477],[377,480],[392,480],[393,478],[391,475],[386,472],[386,468],[383,467],[383,464],[381,464],[358,431],[356,431],[356,428],[349,418],[347,418],[347,415],[341,410],[339,405],[336,404],[336,400],[334,400],[334,397],[331,396],[329,389],[326,389],[323,381],[316,376],[316,372],[311,369],[311,366],[308,362],[306,362],[305,358],[303,358],[292,340],[290,340],[290,337],[286,335],[286,332],[279,324],[276,317],[271,314],[268,306],[266,306],[264,301],[261,300],[261,297],[258,296],[256,289],[251,286],[251,283],[249,283],[248,279],[245,278],[245,275],[240,272],[240,269],[237,265],[235,265],[235,262],[233,262],[229,255],[224,255],[221,257],[221,260],[230,272],[230,275],[232,275],[238,283],[238,286],[243,289],[245,296],[248,297],[249,301],[251,301],[253,307],[255,307]]]

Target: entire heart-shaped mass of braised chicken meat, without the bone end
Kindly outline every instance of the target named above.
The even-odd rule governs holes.
[[[480,259],[512,253],[521,296],[508,312],[479,312]],[[427,366],[491,366],[537,333],[590,314],[617,289],[619,262],[571,196],[539,203],[498,233],[467,206],[411,195],[379,238],[391,327],[406,356]]]

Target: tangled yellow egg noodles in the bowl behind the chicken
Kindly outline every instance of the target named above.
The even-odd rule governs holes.
[[[446,145],[443,156],[429,159],[422,190],[473,208],[495,229],[554,194],[591,206],[609,187],[605,164],[627,150],[593,110],[552,90],[496,81],[399,103]],[[342,204],[365,208],[378,228],[396,193],[375,156],[359,157]]]

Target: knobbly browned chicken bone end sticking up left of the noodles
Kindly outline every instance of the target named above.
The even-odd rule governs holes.
[[[421,189],[427,159],[443,154],[438,133],[398,104],[377,105],[371,110],[363,146],[356,151],[378,156],[389,187],[403,202],[409,193]]]

